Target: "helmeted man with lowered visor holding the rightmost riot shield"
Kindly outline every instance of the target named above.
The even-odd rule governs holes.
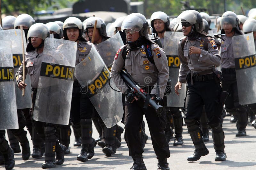
[[[226,110],[232,115],[237,116],[237,130],[236,137],[246,136],[245,128],[247,126],[247,113],[246,108],[239,104],[238,90],[236,83],[236,70],[235,59],[233,56],[232,37],[242,35],[239,29],[239,19],[232,11],[227,11],[222,14],[221,20],[221,33],[226,34],[223,36],[225,41],[222,41],[220,47],[221,55],[221,72],[224,78],[222,81],[223,91],[227,91],[231,96],[227,97],[225,101]]]

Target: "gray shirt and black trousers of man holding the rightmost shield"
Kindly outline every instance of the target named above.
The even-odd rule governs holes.
[[[235,33],[234,36],[240,35]],[[225,108],[233,115],[237,115],[238,130],[245,130],[247,126],[246,108],[239,104],[238,90],[236,83],[235,59],[233,55],[232,37],[222,36],[225,41],[221,42],[221,72],[224,80],[222,81],[223,91],[227,91],[231,96],[225,101]]]

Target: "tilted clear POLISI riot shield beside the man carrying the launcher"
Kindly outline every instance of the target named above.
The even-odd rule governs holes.
[[[108,68],[94,46],[87,57],[76,65],[75,76],[81,84],[81,92],[89,97],[105,125],[108,128],[116,125],[124,113],[122,96],[110,88],[109,83],[113,88],[116,85],[109,80]]]

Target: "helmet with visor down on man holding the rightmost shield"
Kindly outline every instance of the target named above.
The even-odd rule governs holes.
[[[220,20],[220,26],[221,26],[221,33],[225,34],[224,29],[223,29],[223,24],[224,23],[229,23],[232,25],[232,28],[239,34],[242,34],[242,32],[239,29],[239,19],[237,18],[237,15],[235,12],[232,11],[226,11],[222,14],[221,20]]]

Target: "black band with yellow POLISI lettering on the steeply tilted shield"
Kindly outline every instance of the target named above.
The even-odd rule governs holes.
[[[96,77],[92,83],[88,85],[88,90],[86,95],[92,97],[100,92],[100,90],[105,87],[109,81],[110,75],[108,70],[104,67],[98,77]]]

